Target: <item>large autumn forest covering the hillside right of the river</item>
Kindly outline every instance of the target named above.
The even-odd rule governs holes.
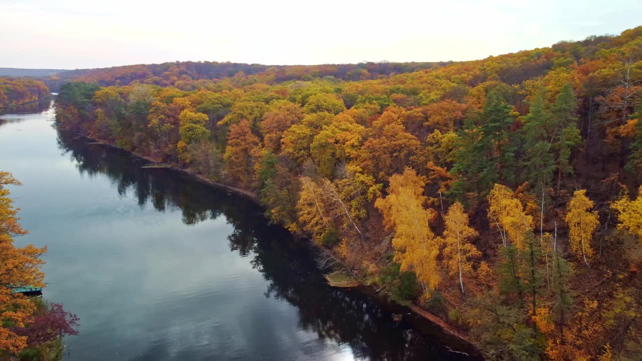
[[[469,62],[203,64],[83,73],[56,117],[255,194],[489,360],[639,360],[642,26]]]

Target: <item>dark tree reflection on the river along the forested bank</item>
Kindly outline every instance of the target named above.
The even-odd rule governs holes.
[[[66,131],[58,131],[58,147],[73,159],[78,172],[89,177],[107,175],[120,195],[134,193],[141,207],[151,204],[159,212],[180,209],[186,225],[224,216],[234,226],[228,236],[230,250],[251,257],[252,267],[269,281],[265,297],[296,306],[300,328],[314,331],[320,339],[349,345],[355,358],[473,359],[449,353],[444,344],[473,351],[427,321],[406,315],[403,321],[395,322],[392,312],[406,313],[406,308],[358,290],[328,286],[315,267],[315,251],[282,227],[269,225],[264,209],[252,200],[229,195],[173,170],[141,168],[147,163],[143,159],[74,139]],[[158,355],[157,351],[153,354]]]

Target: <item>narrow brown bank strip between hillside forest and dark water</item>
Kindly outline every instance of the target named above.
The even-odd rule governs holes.
[[[56,124],[64,127],[64,124],[62,124],[62,123],[56,123]],[[247,191],[247,190],[241,189],[241,188],[236,188],[236,187],[230,186],[228,184],[223,184],[223,183],[220,183],[220,182],[214,182],[213,180],[207,179],[207,177],[205,177],[204,175],[199,174],[195,170],[191,170],[189,168],[180,168],[178,166],[178,164],[163,163],[162,161],[159,161],[159,159],[154,159],[153,157],[150,157],[149,155],[139,154],[137,152],[132,152],[130,150],[126,150],[125,148],[121,148],[119,146],[110,144],[107,141],[104,141],[102,139],[96,139],[96,138],[89,137],[89,136],[82,136],[80,134],[78,134],[77,136],[78,137],[83,137],[84,139],[88,139],[89,141],[91,141],[91,143],[100,144],[100,145],[103,145],[103,146],[108,146],[110,148],[115,148],[115,149],[127,152],[128,154],[134,155],[135,157],[138,157],[139,159],[144,159],[145,161],[148,161],[150,163],[147,166],[145,166],[146,168],[166,168],[168,170],[171,170],[172,172],[183,173],[183,174],[188,175],[189,177],[197,180],[198,182],[200,182],[202,184],[206,184],[208,186],[213,186],[215,188],[225,189],[225,190],[230,191],[230,192],[232,192],[232,193],[234,193],[236,195],[240,195],[240,196],[245,197],[245,198],[247,198],[249,200],[252,200],[257,205],[261,206],[260,201],[259,201],[259,197],[254,192]],[[150,166],[150,165],[152,165],[152,166]],[[324,254],[327,254],[328,256],[331,256],[332,258],[337,260],[339,263],[342,263],[345,267],[349,267],[349,265],[345,264],[343,262],[343,260],[339,256],[337,256],[336,254],[334,254],[334,252],[332,252],[331,250],[329,250],[329,249],[327,249],[325,247],[322,247],[322,246],[318,245],[317,243],[312,242],[311,240],[309,240],[308,243],[309,243],[309,245],[311,245],[313,248],[317,249],[318,251],[323,252]],[[402,309],[405,308],[408,312],[412,312],[417,317],[421,317],[421,319],[424,319],[425,321],[429,321],[432,324],[435,324],[435,326],[438,326],[445,333],[447,333],[447,334],[449,334],[449,335],[451,335],[453,337],[456,337],[456,339],[459,339],[459,340],[461,340],[463,342],[466,342],[467,344],[470,345],[471,349],[474,349],[475,351],[478,352],[478,350],[474,346],[473,342],[471,342],[468,339],[468,337],[465,335],[464,332],[462,332],[461,330],[458,330],[457,328],[455,328],[455,326],[452,326],[451,324],[448,324],[446,321],[444,321],[443,319],[441,319],[437,315],[435,315],[433,313],[430,313],[427,310],[424,310],[423,308],[421,308],[417,304],[414,304],[414,303],[402,304],[402,303],[399,303],[398,301],[396,301],[394,298],[390,297],[390,294],[387,294],[387,293],[382,294],[382,293],[380,293],[379,292],[380,290],[376,290],[373,286],[367,285],[365,283],[365,281],[363,280],[363,277],[361,277],[358,274],[358,272],[356,272],[356,270],[352,269],[351,267],[349,267],[349,269],[351,269],[352,272],[354,273],[354,276],[356,276],[355,279],[358,282],[358,284],[357,283],[350,283],[349,285],[333,285],[330,282],[329,282],[329,284],[331,286],[343,286],[343,287],[349,287],[349,288],[357,288],[357,289],[363,291],[365,294],[370,295],[370,297],[379,297],[379,298],[383,297],[383,298],[386,299],[386,301],[395,303],[400,308],[402,308]],[[455,352],[455,353],[458,352],[458,351],[453,351],[453,350],[451,350],[451,351]],[[466,353],[466,355],[468,355],[468,354]]]

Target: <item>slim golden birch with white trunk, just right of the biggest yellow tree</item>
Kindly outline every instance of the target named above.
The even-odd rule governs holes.
[[[464,294],[463,274],[473,270],[472,257],[478,257],[482,253],[470,243],[469,240],[477,236],[477,231],[468,225],[468,215],[464,211],[464,206],[460,202],[455,202],[448,209],[444,218],[446,222],[446,231],[444,231],[444,261],[449,274],[459,274],[459,285]]]

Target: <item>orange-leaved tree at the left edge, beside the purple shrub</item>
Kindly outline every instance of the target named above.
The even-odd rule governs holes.
[[[17,248],[13,244],[14,236],[27,232],[18,223],[18,209],[4,188],[10,184],[17,186],[20,182],[11,173],[0,172],[0,355],[17,354],[27,346],[26,337],[16,335],[13,329],[24,327],[35,307],[24,295],[13,294],[11,286],[44,286],[40,256],[47,251],[46,247]]]

